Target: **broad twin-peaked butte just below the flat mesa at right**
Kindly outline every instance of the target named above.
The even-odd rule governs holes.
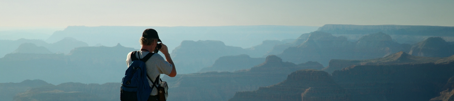
[[[409,44],[395,43],[389,35],[383,33],[365,35],[356,42],[350,42],[343,36],[313,32],[304,43],[287,48],[277,56],[292,63],[316,61],[327,66],[331,59],[381,58],[399,51],[407,52],[409,49]]]

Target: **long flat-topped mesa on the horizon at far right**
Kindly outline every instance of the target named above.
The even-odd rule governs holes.
[[[366,34],[383,32],[390,34],[397,43],[415,44],[429,37],[442,37],[454,41],[452,26],[325,24],[317,31],[345,36],[349,40],[358,40]]]

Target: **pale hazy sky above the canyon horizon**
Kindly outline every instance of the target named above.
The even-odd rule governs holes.
[[[454,0],[0,0],[0,26],[454,26]]]

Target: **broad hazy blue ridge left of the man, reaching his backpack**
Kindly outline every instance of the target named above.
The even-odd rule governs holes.
[[[0,58],[0,75],[14,77],[4,77],[0,82],[24,79],[42,79],[53,84],[118,82],[127,68],[127,54],[136,50],[117,44],[74,48],[69,54],[9,53]]]

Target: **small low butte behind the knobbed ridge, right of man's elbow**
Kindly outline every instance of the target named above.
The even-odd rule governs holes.
[[[242,69],[249,69],[264,61],[265,58],[251,58],[246,54],[223,56],[216,59],[212,66],[204,67],[199,72],[234,72]]]

